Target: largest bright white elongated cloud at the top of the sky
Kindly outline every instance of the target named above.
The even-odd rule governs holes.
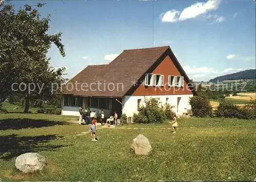
[[[162,22],[176,22],[183,21],[186,19],[196,18],[201,14],[205,14],[211,10],[218,9],[221,1],[209,0],[206,3],[195,3],[187,8],[184,8],[182,12],[178,10],[169,10],[160,15]]]

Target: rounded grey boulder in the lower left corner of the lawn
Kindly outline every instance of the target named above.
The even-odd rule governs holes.
[[[24,173],[40,171],[46,164],[44,156],[32,152],[19,155],[15,161],[16,168]]]

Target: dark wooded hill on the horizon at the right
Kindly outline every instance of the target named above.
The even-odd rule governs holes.
[[[220,77],[216,77],[214,79],[210,79],[209,82],[221,82],[224,80],[243,80],[243,79],[249,79],[249,80],[255,80],[256,77],[256,70],[245,70],[242,72],[238,72],[238,73],[233,73],[233,74],[228,74],[228,75],[223,75]]]

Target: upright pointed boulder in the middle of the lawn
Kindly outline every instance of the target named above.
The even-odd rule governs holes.
[[[150,141],[144,135],[139,134],[131,146],[131,150],[135,151],[136,155],[148,155],[152,151]]]

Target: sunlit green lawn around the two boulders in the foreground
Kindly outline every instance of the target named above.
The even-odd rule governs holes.
[[[73,117],[76,118],[76,117]],[[170,124],[134,124],[98,129],[100,140],[90,141],[89,126],[72,117],[43,114],[0,115],[0,178],[3,181],[177,181],[244,180],[255,178],[255,121],[237,119],[178,119]],[[123,129],[124,128],[124,129]],[[133,139],[143,134],[153,151],[130,152]],[[47,167],[22,174],[15,158],[38,152]],[[231,177],[231,179],[228,179]]]

